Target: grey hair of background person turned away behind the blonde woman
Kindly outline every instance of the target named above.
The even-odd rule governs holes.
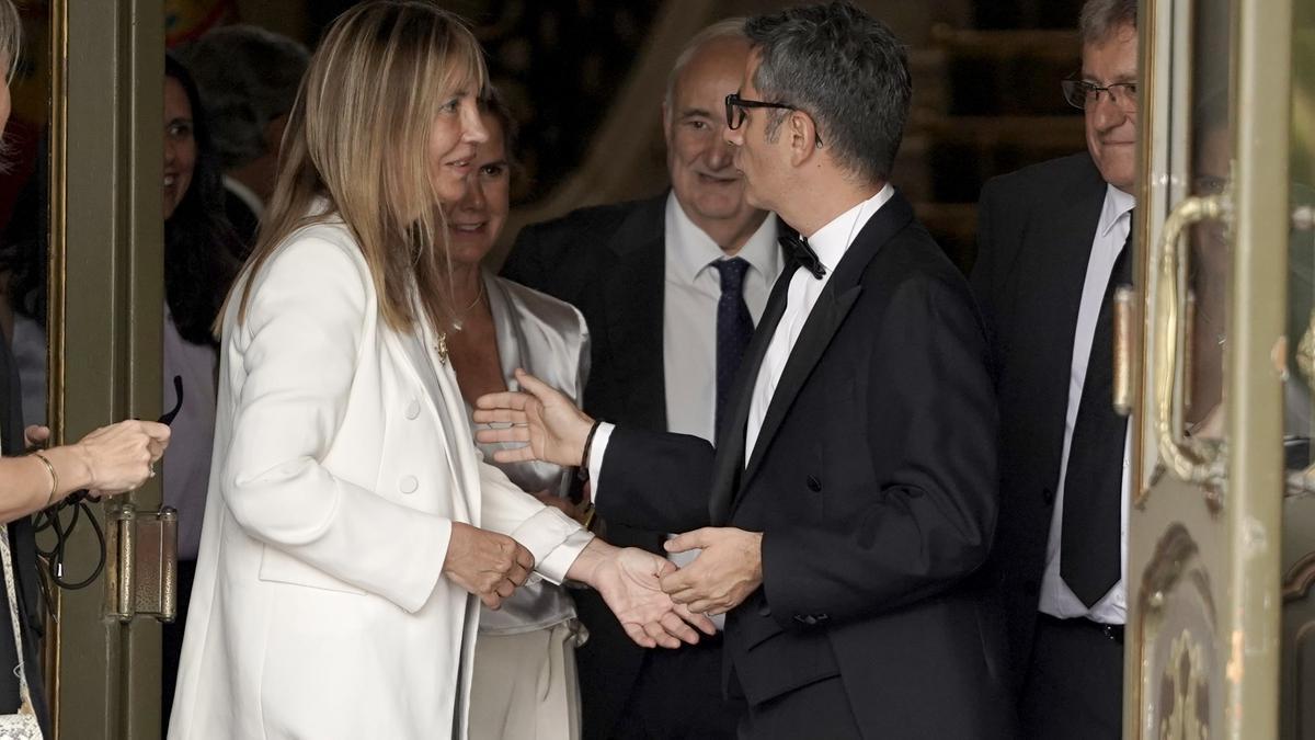
[[[264,128],[297,99],[310,63],[306,47],[239,24],[210,29],[180,55],[201,91],[224,169],[264,155]]]

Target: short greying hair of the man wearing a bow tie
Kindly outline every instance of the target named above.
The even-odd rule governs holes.
[[[847,1],[756,16],[744,33],[761,54],[759,96],[813,116],[846,171],[867,183],[889,179],[913,97],[909,57],[894,33]],[[768,119],[769,140],[785,116]]]

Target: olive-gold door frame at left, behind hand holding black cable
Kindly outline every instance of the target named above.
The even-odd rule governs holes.
[[[164,76],[162,0],[51,0],[50,421],[57,444],[162,403]],[[160,478],[93,506],[159,508]],[[95,562],[87,527],[72,562]],[[160,628],[109,616],[107,573],[58,591],[46,677],[58,737],[158,737]]]

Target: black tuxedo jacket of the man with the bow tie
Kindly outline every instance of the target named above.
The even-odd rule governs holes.
[[[750,342],[718,449],[618,425],[597,506],[673,532],[764,533],[763,586],[725,637],[750,704],[839,677],[864,736],[1009,737],[1001,623],[970,579],[995,525],[997,429],[968,284],[897,194],[822,291],[746,462],[793,271]]]

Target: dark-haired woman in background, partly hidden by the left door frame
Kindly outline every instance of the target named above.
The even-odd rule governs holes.
[[[164,399],[183,406],[164,461],[164,504],[178,510],[178,619],[164,625],[164,723],[174,702],[183,627],[196,574],[214,446],[218,342],[212,327],[237,277],[242,244],[224,216],[224,186],[205,128],[200,95],[187,68],[164,58]]]

